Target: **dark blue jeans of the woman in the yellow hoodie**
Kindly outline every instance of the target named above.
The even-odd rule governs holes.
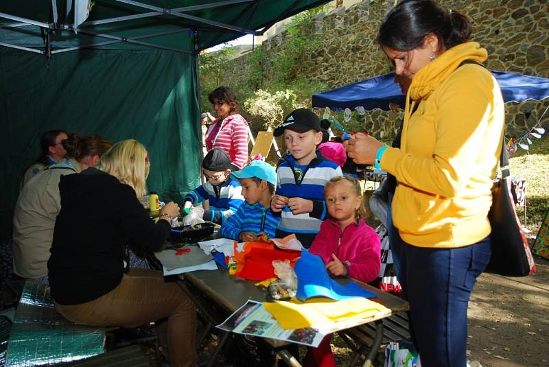
[[[490,254],[489,237],[460,248],[403,243],[402,296],[410,303],[410,329],[421,366],[466,366],[467,305]]]

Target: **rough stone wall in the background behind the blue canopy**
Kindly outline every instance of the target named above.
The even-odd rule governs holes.
[[[489,69],[549,78],[549,0],[440,0],[440,3],[469,16],[474,27],[472,39],[489,52]],[[349,9],[318,14],[304,30],[320,37],[320,47],[301,60],[299,73],[331,89],[388,72],[388,62],[375,43],[375,35],[382,17],[393,4],[393,0],[364,0]],[[263,57],[268,60],[287,36],[283,32],[266,40],[261,45]],[[235,72],[226,75],[233,75],[232,78],[243,75],[248,57],[233,60],[227,67]],[[541,117],[547,104],[547,100],[506,104],[507,134],[526,132]],[[401,118],[402,113],[374,110],[355,118],[354,124],[364,123],[363,128],[378,137],[392,137]],[[549,117],[543,122],[546,126]]]

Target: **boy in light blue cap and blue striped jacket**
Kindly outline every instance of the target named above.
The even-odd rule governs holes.
[[[280,216],[270,210],[274,185],[277,185],[274,169],[263,161],[252,161],[231,177],[240,180],[246,201],[221,226],[221,235],[242,242],[257,241],[263,234],[274,237],[280,220]]]

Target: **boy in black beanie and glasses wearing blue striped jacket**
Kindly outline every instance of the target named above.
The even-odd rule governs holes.
[[[223,224],[244,202],[242,187],[231,175],[231,159],[223,150],[213,149],[202,161],[207,182],[189,191],[183,198],[183,209],[209,200],[210,209],[204,211],[203,220]]]

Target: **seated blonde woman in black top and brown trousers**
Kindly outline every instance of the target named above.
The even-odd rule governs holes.
[[[167,203],[155,224],[141,206],[149,159],[138,141],[113,145],[97,168],[60,180],[61,211],[48,261],[56,309],[93,326],[137,327],[167,318],[159,341],[167,337],[172,366],[196,366],[194,304],[161,272],[124,269],[126,246],[161,248],[179,207]]]

